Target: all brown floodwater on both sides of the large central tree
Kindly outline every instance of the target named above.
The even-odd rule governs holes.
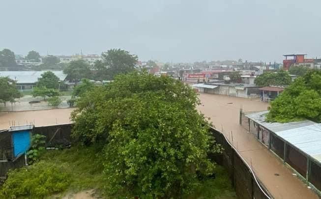
[[[244,112],[267,110],[269,104],[258,99],[229,97],[226,95],[199,95],[201,105],[197,109],[210,117],[212,124],[223,130],[225,136],[247,161],[256,175],[274,198],[282,199],[317,199],[317,195],[287,168],[281,160],[272,154],[252,134],[239,125],[240,108]],[[12,122],[15,125],[34,123],[36,126],[70,122],[70,113],[74,109],[52,109],[0,113],[0,129],[7,129]],[[277,174],[277,175],[276,175]],[[84,197],[86,198],[86,197]]]

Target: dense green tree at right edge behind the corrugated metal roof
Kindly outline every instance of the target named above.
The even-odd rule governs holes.
[[[267,121],[310,119],[321,122],[321,71],[309,70],[298,77],[271,103]]]

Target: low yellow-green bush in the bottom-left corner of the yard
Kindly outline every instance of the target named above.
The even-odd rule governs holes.
[[[42,199],[65,190],[70,176],[62,165],[39,162],[29,167],[10,171],[0,188],[0,198]]]

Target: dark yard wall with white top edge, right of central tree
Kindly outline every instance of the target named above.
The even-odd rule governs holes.
[[[224,148],[223,154],[216,155],[213,159],[227,169],[237,197],[239,199],[270,199],[270,195],[257,180],[253,170],[233,145],[218,130],[211,128],[210,131],[216,143]]]

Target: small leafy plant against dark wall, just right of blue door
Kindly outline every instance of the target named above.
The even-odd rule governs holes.
[[[35,134],[31,138],[31,147],[27,152],[29,164],[33,164],[39,161],[40,155],[45,150],[46,136]]]

